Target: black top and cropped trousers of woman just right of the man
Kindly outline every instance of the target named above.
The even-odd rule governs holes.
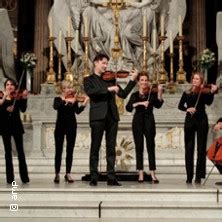
[[[132,112],[133,104],[148,100],[148,95],[140,95],[135,92],[131,95],[129,102],[126,105],[126,110]],[[149,159],[149,169],[156,170],[155,160],[155,135],[156,126],[153,115],[153,107],[160,108],[163,100],[157,98],[157,93],[151,93],[148,107],[139,105],[135,107],[135,114],[133,116],[132,130],[136,146],[136,168],[143,170],[143,150],[144,150],[144,136],[146,138],[146,147]]]

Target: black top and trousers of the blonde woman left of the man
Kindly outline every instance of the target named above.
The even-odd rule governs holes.
[[[57,119],[55,126],[55,173],[60,172],[61,159],[63,151],[63,142],[66,135],[66,173],[71,172],[72,160],[73,160],[73,150],[76,140],[76,128],[77,122],[75,113],[81,113],[85,106],[79,106],[78,102],[67,103],[61,99],[61,97],[56,97],[54,99],[53,108],[57,110]]]

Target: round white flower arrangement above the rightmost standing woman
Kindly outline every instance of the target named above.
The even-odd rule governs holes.
[[[199,66],[201,69],[209,69],[215,62],[215,53],[210,49],[204,49],[200,54]]]

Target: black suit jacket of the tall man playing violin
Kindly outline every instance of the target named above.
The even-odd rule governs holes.
[[[90,97],[90,121],[105,119],[108,110],[111,111],[114,120],[119,121],[115,93],[109,92],[107,89],[114,84],[115,81],[105,81],[96,74],[84,79],[84,90]],[[135,84],[135,81],[130,80],[124,89],[119,86],[118,96],[126,98]]]

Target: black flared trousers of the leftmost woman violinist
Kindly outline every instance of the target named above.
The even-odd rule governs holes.
[[[7,183],[12,183],[14,181],[14,168],[13,168],[13,160],[12,160],[12,143],[11,137],[14,137],[15,145],[18,154],[19,160],[19,173],[22,182],[26,182],[29,180],[28,178],[28,170],[27,164],[25,159],[25,153],[23,148],[23,135],[22,134],[15,134],[15,135],[8,135],[3,134],[2,140],[5,148],[5,163],[6,163],[6,180]]]

